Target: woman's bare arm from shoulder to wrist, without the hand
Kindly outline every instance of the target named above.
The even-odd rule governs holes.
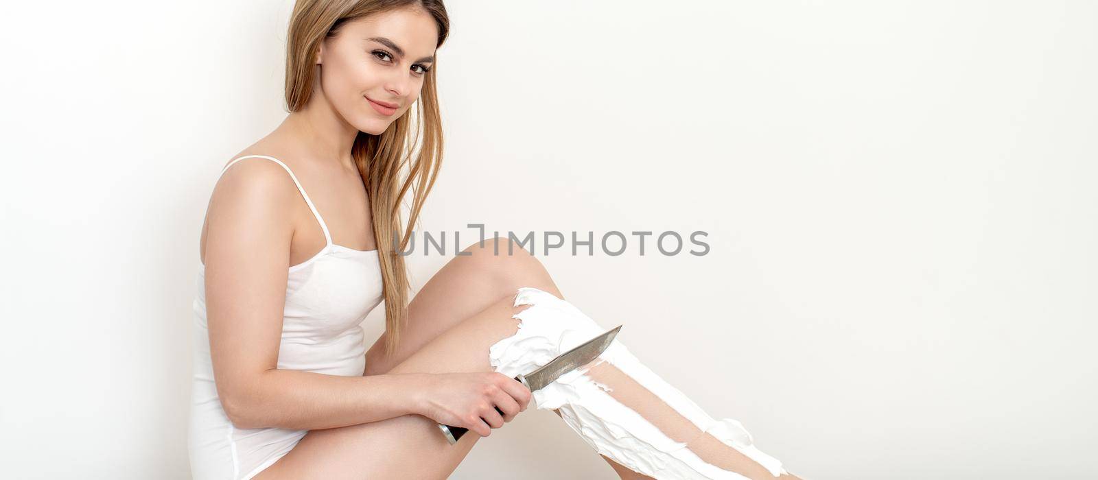
[[[300,204],[300,205],[299,205]],[[270,161],[240,161],[206,214],[210,353],[222,407],[243,428],[330,428],[417,413],[427,374],[344,377],[278,369],[293,225],[304,205]]]

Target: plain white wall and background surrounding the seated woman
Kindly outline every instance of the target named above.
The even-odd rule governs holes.
[[[539,258],[806,478],[1098,475],[1095,3],[448,3],[424,228],[708,231]],[[0,476],[189,477],[202,216],[291,7],[4,9]],[[453,475],[519,477],[615,478],[535,410]]]

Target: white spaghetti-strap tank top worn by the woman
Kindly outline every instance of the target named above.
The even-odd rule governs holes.
[[[246,158],[262,158],[282,165],[324,230],[324,248],[313,258],[290,266],[278,368],[362,375],[366,343],[359,323],[382,300],[378,251],[355,250],[332,243],[324,218],[316,212],[298,178],[285,163],[274,158],[261,155],[240,157],[225,165],[222,174]],[[210,361],[205,265],[201,262],[197,286],[188,438],[191,475],[195,479],[250,479],[288,454],[307,431],[236,428],[228,421],[217,398]]]

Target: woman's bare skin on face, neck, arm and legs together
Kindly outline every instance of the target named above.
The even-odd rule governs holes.
[[[327,222],[334,243],[377,249],[350,146],[358,132],[379,134],[412,106],[422,88],[419,70],[430,65],[419,60],[434,55],[434,28],[415,10],[348,23],[322,46],[317,68],[324,66],[323,79],[309,105],[233,158],[266,155],[285,162]],[[365,39],[377,36],[392,39],[405,55],[371,56],[383,46]],[[400,107],[382,115],[363,96]],[[277,359],[287,268],[314,256],[325,239],[281,167],[248,159],[226,171],[211,196],[200,240],[219,396],[239,427],[310,431],[256,478],[446,478],[481,436],[526,410],[529,390],[493,373],[488,350],[517,329],[518,320],[511,317],[525,308],[512,306],[518,287],[563,296],[539,261],[520,248],[514,255],[495,255],[495,241],[470,245],[468,256],[451,260],[421,289],[411,301],[400,347],[386,356],[385,336],[379,338],[366,354],[361,377],[281,370]],[[501,252],[506,250],[500,245]],[[623,391],[631,381],[606,380],[618,382]],[[468,404],[474,401],[488,407],[482,419],[469,420],[475,425],[452,416],[461,408],[471,411]],[[647,408],[665,432],[698,437],[651,399],[629,401],[639,401],[630,407]],[[449,445],[437,422],[471,431]],[[731,470],[773,478],[759,475],[758,465],[744,462],[735,450],[709,447],[716,447],[712,458],[724,458]],[[603,458],[621,478],[647,478]]]

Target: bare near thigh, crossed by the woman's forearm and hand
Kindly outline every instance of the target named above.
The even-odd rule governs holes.
[[[428,342],[392,368],[392,374],[492,372],[489,348],[514,335],[527,308],[514,307],[514,295]],[[450,445],[436,422],[403,415],[379,422],[310,431],[284,457],[257,479],[415,478],[445,479],[480,438],[472,432]]]

